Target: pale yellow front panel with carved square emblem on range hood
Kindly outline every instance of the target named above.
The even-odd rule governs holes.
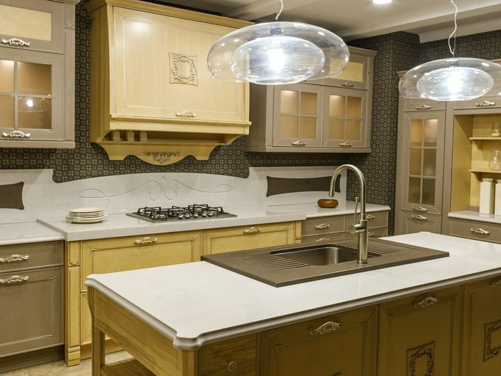
[[[112,112],[212,125],[248,123],[248,84],[213,79],[205,66],[214,42],[234,29],[118,7],[113,15]],[[190,132],[189,125],[180,132]]]

